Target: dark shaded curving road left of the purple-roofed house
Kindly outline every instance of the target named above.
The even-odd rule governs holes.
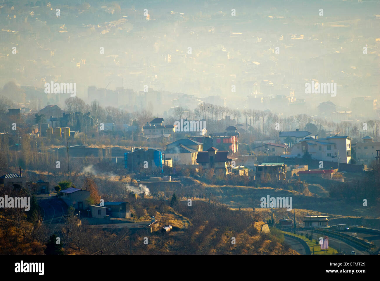
[[[54,233],[58,225],[63,223],[63,216],[67,214],[67,205],[55,196],[40,196],[37,200],[42,208],[43,223]]]

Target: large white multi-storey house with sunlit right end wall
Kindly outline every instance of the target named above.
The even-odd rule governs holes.
[[[310,137],[294,144],[290,154],[302,157],[305,152],[311,154],[312,159],[349,163],[351,160],[351,138],[347,136],[326,137],[316,139]],[[339,157],[339,158],[338,158]]]

